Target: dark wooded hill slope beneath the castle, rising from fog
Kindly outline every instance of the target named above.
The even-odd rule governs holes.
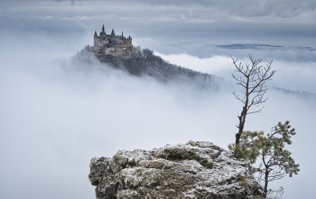
[[[79,55],[82,53],[90,52],[88,52],[88,50],[82,50],[79,52]],[[100,62],[112,68],[125,70],[135,76],[147,75],[160,82],[194,84],[199,87],[211,89],[216,89],[221,83],[224,83],[224,78],[170,64],[160,56],[155,55],[153,51],[149,49],[143,49],[141,53],[127,59],[116,58],[112,55],[93,54]]]

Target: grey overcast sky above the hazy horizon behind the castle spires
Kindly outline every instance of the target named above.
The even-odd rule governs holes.
[[[1,0],[1,27],[316,33],[314,0]]]

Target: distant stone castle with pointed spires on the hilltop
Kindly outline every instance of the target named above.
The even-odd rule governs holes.
[[[115,35],[114,28],[112,28],[111,34],[106,34],[104,24],[99,35],[97,31],[94,32],[93,41],[93,47],[89,47],[89,50],[98,54],[110,54],[114,57],[129,58],[131,55],[140,52],[140,46],[134,47],[132,45],[131,36],[126,38],[123,35],[123,31],[122,35]]]

